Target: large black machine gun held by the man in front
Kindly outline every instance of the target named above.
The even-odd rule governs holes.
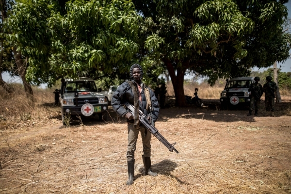
[[[134,106],[132,106],[131,104],[129,104],[128,102],[125,102],[124,105],[129,109],[130,113],[133,115],[134,117]],[[155,126],[153,126],[149,120],[147,119],[146,115],[139,110],[139,119],[140,122],[142,123],[142,125],[149,130],[149,132],[151,134],[153,134],[160,142],[162,142],[162,144],[164,146],[166,146],[170,152],[173,152],[173,150],[175,152],[177,152],[177,154],[179,153],[178,150],[174,147],[176,145],[176,143],[174,144],[170,144],[162,135],[161,133],[159,133],[159,130],[157,128],[155,128]]]

